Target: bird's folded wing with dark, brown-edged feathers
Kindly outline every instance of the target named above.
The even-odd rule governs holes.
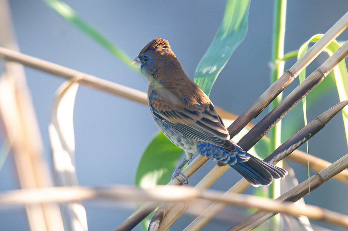
[[[205,95],[203,99],[188,99],[156,91],[150,93],[149,102],[154,116],[184,135],[229,151],[236,150],[221,117]]]

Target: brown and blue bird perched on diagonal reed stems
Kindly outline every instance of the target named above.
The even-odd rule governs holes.
[[[149,82],[148,102],[152,117],[161,132],[186,153],[174,172],[181,173],[193,154],[228,164],[251,185],[269,185],[284,178],[283,168],[264,162],[231,141],[209,97],[184,72],[169,42],[157,38],[149,42],[133,60]]]

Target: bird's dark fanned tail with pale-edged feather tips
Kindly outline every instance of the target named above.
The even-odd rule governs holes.
[[[248,161],[237,162],[230,166],[244,176],[254,187],[269,185],[273,179],[284,178],[288,174],[285,169],[264,162],[252,155],[250,155]]]

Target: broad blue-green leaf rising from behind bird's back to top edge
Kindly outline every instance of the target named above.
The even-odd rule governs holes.
[[[245,38],[248,30],[249,6],[249,0],[227,1],[222,24],[196,70],[194,81],[207,96],[217,75]]]

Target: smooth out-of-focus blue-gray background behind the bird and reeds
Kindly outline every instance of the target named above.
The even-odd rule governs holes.
[[[193,77],[200,58],[219,28],[226,5],[225,1],[66,2],[131,57],[137,55],[154,38],[169,40],[190,77]],[[147,82],[142,76],[132,72],[44,2],[10,0],[10,7],[21,52],[146,91]],[[345,0],[289,1],[285,52],[298,49],[314,34],[325,33],[347,9],[348,2]],[[215,105],[240,115],[268,88],[272,17],[273,1],[252,1],[246,38],[234,52],[213,87],[211,99]],[[347,40],[347,33],[343,32],[339,39]],[[313,70],[320,65],[325,57],[319,56],[309,69]],[[289,61],[286,67],[290,67],[294,61]],[[46,157],[50,162],[47,125],[54,92],[64,80],[30,68],[25,71]],[[293,89],[297,84],[298,79],[289,88]],[[287,94],[290,90],[286,89],[284,92]],[[309,121],[337,102],[339,99],[335,91],[325,94],[310,110]],[[85,86],[80,86],[77,93],[74,129],[78,178],[81,185],[88,186],[133,184],[142,152],[158,132],[147,106]],[[309,151],[330,162],[347,153],[341,115],[332,119],[309,141]],[[197,183],[214,164],[208,162],[193,175],[190,185]],[[306,167],[291,164],[299,181],[305,180]],[[235,171],[228,171],[212,188],[227,190],[239,178]],[[13,160],[9,157],[0,171],[0,190],[18,187]],[[347,189],[346,184],[330,180],[306,196],[305,200],[308,204],[347,214]],[[88,202],[84,205],[90,230],[113,230],[134,211],[133,205],[125,208],[119,207],[117,203]],[[183,229],[192,218],[190,215],[185,216],[181,222],[175,223],[173,230]],[[230,220],[231,223],[214,221],[211,225],[218,225],[217,230],[225,230],[235,222],[232,217]],[[23,208],[0,209],[0,230],[28,229]],[[204,230],[211,229],[212,226],[207,226]]]

